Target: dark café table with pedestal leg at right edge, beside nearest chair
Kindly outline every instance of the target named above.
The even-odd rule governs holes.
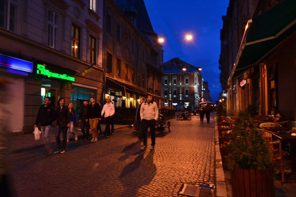
[[[290,179],[296,181],[296,136],[291,133],[276,133],[273,135],[281,141],[290,142],[291,175]]]

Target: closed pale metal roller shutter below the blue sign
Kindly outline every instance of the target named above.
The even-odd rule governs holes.
[[[21,132],[24,122],[24,78],[0,75],[6,79],[6,97],[2,108],[6,112],[7,132]]]

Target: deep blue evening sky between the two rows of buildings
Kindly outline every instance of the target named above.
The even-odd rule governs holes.
[[[211,99],[221,92],[220,29],[229,0],[144,0],[153,30],[163,36],[163,61],[178,57],[201,67],[202,77],[209,84]],[[191,33],[192,40],[186,35]]]

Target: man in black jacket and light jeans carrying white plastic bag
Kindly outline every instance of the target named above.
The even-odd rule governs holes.
[[[44,104],[38,110],[34,128],[40,123],[41,133],[43,136],[46,151],[43,154],[50,154],[52,152],[52,143],[49,138],[52,122],[55,121],[55,109],[50,105],[51,97],[45,97]]]

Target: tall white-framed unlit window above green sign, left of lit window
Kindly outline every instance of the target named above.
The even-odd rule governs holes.
[[[59,46],[59,15],[48,11],[48,46],[58,49]]]

